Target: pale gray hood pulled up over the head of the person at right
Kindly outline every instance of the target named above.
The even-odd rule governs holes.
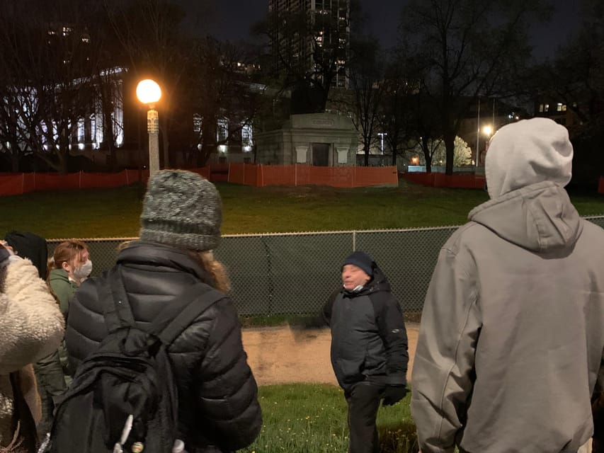
[[[491,200],[542,181],[564,187],[571,180],[573,147],[566,127],[532,118],[501,127],[486,153],[486,186]]]

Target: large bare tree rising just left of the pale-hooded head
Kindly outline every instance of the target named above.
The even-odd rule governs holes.
[[[413,0],[404,8],[402,38],[426,64],[426,88],[438,100],[446,173],[455,137],[477,96],[496,93],[530,56],[529,18],[546,18],[542,1]]]

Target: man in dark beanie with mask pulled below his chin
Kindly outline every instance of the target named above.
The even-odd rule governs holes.
[[[352,253],[343,287],[323,309],[331,328],[331,365],[348,403],[349,453],[377,453],[377,409],[406,394],[409,353],[401,306],[373,258]]]

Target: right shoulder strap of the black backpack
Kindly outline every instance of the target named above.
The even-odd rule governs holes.
[[[168,346],[190,323],[226,296],[205,283],[197,283],[179,294],[155,317],[149,333]]]

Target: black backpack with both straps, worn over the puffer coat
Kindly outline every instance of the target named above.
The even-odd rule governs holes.
[[[50,453],[170,453],[178,440],[178,392],[167,348],[224,294],[198,283],[137,328],[118,266],[103,275],[108,336],[79,365],[57,406]]]

